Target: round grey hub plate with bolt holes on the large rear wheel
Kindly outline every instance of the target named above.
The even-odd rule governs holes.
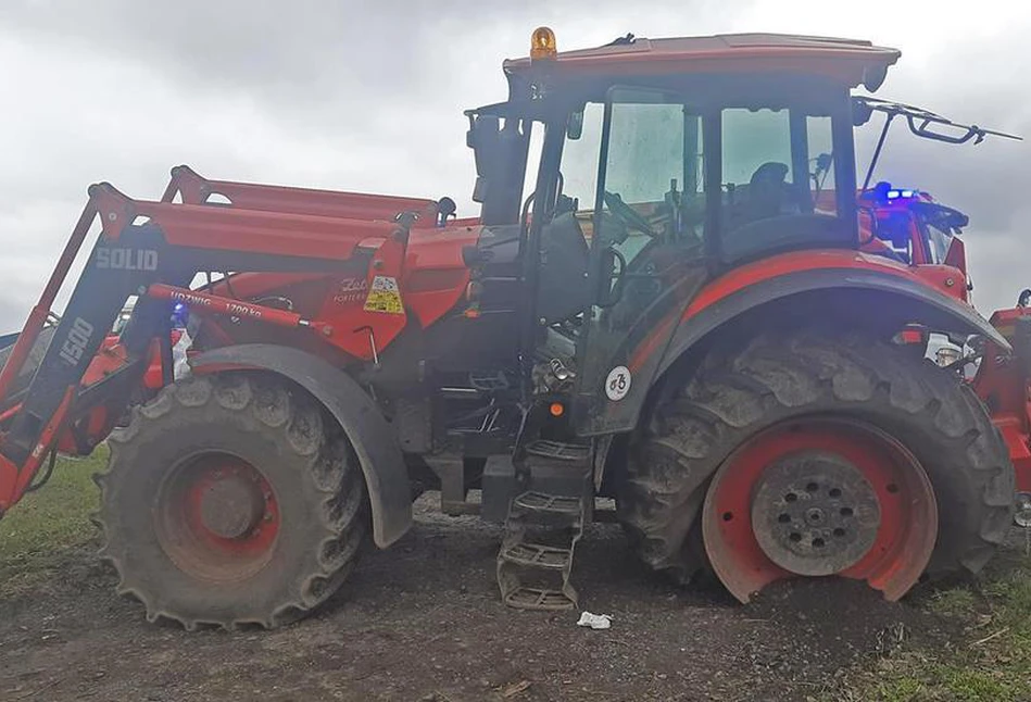
[[[805,576],[855,565],[877,539],[877,492],[833,453],[805,451],[767,466],[752,499],[752,528],[777,565]]]

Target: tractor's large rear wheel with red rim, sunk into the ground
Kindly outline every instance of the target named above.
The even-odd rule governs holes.
[[[840,575],[897,599],[978,572],[1005,539],[1014,472],[959,378],[893,344],[817,333],[714,350],[661,400],[619,499],[641,559],[739,600]]]

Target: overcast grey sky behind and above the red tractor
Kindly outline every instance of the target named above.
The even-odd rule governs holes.
[[[1031,137],[1031,9],[980,0],[0,0],[0,333],[20,327],[86,201],[156,199],[202,175],[439,198],[476,214],[462,110],[503,99],[501,62],[559,49],[785,32],[903,51],[877,96]],[[1021,75],[1022,74],[1022,75]],[[902,125],[898,125],[902,126]],[[893,131],[879,177],[970,215],[982,312],[1031,285],[1031,145]],[[866,152],[864,152],[866,153]]]

